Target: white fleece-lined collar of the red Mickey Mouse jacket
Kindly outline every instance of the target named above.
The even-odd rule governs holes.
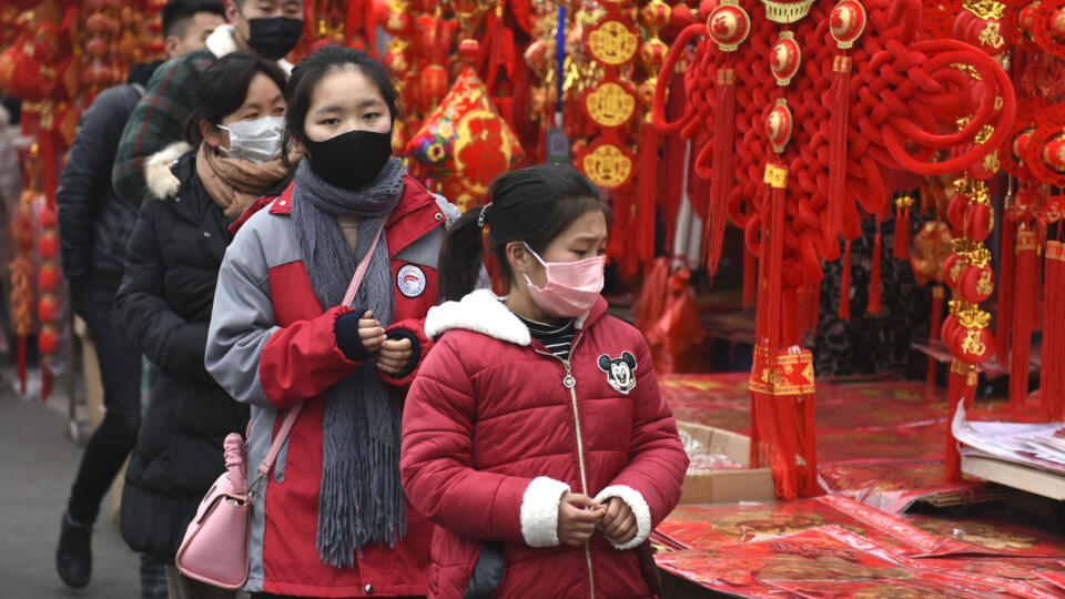
[[[577,328],[591,326],[606,312],[607,301],[600,296],[587,314],[577,318]],[[491,290],[476,290],[459,302],[445,302],[429,308],[425,317],[425,334],[429,338],[438,338],[455,328],[473,331],[520,346],[532,343],[529,328]]]

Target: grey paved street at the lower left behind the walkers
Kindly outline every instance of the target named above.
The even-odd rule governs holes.
[[[93,577],[71,590],[55,573],[60,515],[81,448],[67,436],[64,380],[49,406],[19,397],[12,372],[0,375],[0,598],[136,599],[138,558],[111,519],[111,498],[93,536]]]

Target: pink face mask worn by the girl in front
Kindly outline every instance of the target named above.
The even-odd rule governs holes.
[[[547,271],[547,285],[542,287],[534,285],[529,276],[525,275],[529,295],[540,309],[559,318],[572,318],[596,305],[599,292],[602,291],[602,268],[607,256],[577,262],[544,262],[528,244],[525,248]]]

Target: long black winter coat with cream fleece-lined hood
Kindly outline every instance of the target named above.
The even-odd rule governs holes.
[[[187,149],[171,146],[149,161],[149,196],[116,298],[131,336],[162,370],[126,473],[122,536],[166,562],[224,470],[223,439],[243,434],[248,417],[204,368],[215,282],[233,236],[195,174],[195,152],[181,155]]]

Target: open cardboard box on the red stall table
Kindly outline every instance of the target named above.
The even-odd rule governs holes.
[[[712,426],[677,423],[677,427],[716,454],[749,466],[751,439]],[[689,470],[681,488],[681,504],[734,504],[774,501],[773,473],[769,468],[744,470]]]

